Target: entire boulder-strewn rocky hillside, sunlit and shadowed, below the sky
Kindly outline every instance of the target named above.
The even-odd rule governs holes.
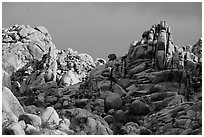
[[[94,61],[57,50],[42,26],[2,36],[2,134],[202,134],[202,39],[177,46],[161,21]]]

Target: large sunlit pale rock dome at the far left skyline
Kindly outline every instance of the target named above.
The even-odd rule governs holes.
[[[15,25],[3,29],[2,36],[3,68],[9,74],[22,68],[31,60],[40,60],[50,47],[53,51],[56,49],[48,31],[41,32],[30,26]]]

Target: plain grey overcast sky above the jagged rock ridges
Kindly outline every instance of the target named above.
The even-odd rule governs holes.
[[[202,36],[202,3],[3,3],[2,27],[45,26],[57,49],[72,48],[93,58],[125,55],[145,30],[166,20],[176,45]]]

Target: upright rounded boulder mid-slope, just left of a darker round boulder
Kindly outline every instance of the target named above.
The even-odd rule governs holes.
[[[119,109],[122,106],[122,99],[119,94],[110,93],[105,100],[105,104],[108,110]]]

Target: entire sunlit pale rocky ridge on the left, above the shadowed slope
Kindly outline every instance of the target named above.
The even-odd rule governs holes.
[[[22,71],[30,75],[33,71],[43,70],[47,82],[60,80],[63,74],[69,72],[73,75],[67,83],[69,86],[83,81],[95,67],[90,55],[79,54],[72,49],[57,50],[45,27],[15,25],[3,29],[2,35],[2,67],[10,76],[16,71],[18,75],[22,75]],[[14,80],[21,84],[23,80],[19,79]],[[33,77],[32,80],[39,81],[39,78]]]

